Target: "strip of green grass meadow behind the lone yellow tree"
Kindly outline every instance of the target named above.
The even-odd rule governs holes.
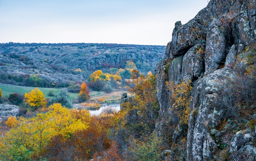
[[[17,85],[6,85],[6,84],[1,84],[0,83],[0,88],[2,89],[3,96],[9,96],[9,94],[12,93],[18,93],[24,95],[25,93],[28,93],[32,89],[35,89],[36,87],[23,87],[23,86],[17,86]],[[46,98],[52,98],[48,96],[48,92],[53,90],[58,92],[60,89],[58,88],[38,88],[41,91],[43,91],[43,94],[45,94]],[[70,100],[73,100],[78,96],[78,94],[74,93],[69,93],[70,94]]]

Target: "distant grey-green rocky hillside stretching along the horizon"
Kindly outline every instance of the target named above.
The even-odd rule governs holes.
[[[50,83],[82,81],[97,69],[124,68],[128,60],[140,72],[153,72],[163,53],[164,46],[7,43],[0,44],[0,72],[2,77],[38,74]],[[74,71],[78,68],[82,72]]]

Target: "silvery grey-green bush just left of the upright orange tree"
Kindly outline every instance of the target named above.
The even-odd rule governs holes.
[[[72,109],[73,105],[68,99],[69,94],[67,92],[67,88],[62,88],[57,94],[54,94],[54,98],[48,101],[47,105],[51,105],[54,103],[61,103],[62,106]]]

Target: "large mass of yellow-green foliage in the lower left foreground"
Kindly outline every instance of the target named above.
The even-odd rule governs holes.
[[[0,138],[0,160],[36,160],[55,136],[68,138],[74,133],[89,128],[90,113],[87,110],[73,111],[61,104],[53,104],[46,113],[32,118],[20,117],[18,124]]]

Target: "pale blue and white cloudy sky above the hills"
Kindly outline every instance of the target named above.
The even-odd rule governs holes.
[[[166,45],[209,0],[0,0],[0,43]]]

